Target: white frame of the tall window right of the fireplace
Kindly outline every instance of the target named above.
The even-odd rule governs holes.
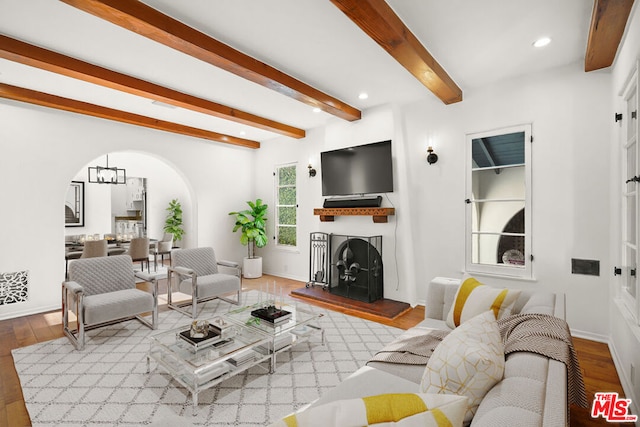
[[[507,276],[512,278],[521,278],[525,280],[533,280],[533,260],[532,260],[532,221],[531,221],[531,123],[509,126],[489,130],[486,132],[476,132],[466,135],[466,199],[477,202],[473,199],[472,192],[472,175],[473,161],[471,158],[471,141],[476,138],[483,138],[497,134],[508,134],[515,132],[524,132],[525,141],[525,265],[524,267],[508,266],[504,264],[478,264],[472,260],[473,256],[473,212],[474,203],[466,203],[465,212],[465,271],[469,273],[478,273],[490,276]]]

